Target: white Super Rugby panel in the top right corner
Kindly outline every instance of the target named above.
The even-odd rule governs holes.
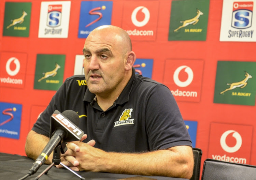
[[[255,6],[255,0],[224,0],[219,41],[255,42]]]

